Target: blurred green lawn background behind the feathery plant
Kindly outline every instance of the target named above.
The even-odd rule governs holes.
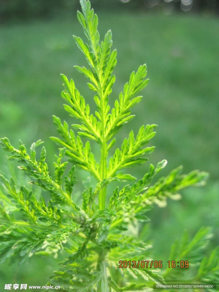
[[[42,139],[51,173],[58,153],[49,140],[57,135],[52,115],[69,125],[74,123],[62,106],[60,73],[75,81],[95,109],[87,80],[73,68],[86,65],[72,38],[72,34],[83,36],[76,17],[79,2],[63,1],[63,7],[56,2],[59,6],[52,8],[42,6],[41,1],[26,1],[25,13],[15,1],[7,2],[10,7],[2,1],[0,13],[0,137],[7,136],[15,147],[21,139],[27,148]],[[219,243],[218,6],[217,1],[205,5],[190,1],[192,6],[190,3],[185,13],[185,1],[158,1],[150,7],[150,1],[127,2],[93,1],[101,39],[111,29],[113,49],[117,48],[110,105],[139,65],[147,64],[150,78],[142,102],[133,109],[136,117],[120,132],[117,146],[130,129],[136,135],[142,124],[157,124],[157,135],[150,142],[156,150],[149,163],[167,159],[162,175],[181,164],[185,173],[199,169],[210,174],[205,187],[185,190],[182,200],[168,201],[166,208],[155,207],[148,214],[152,222],[141,227],[142,240],[153,239],[154,258],[167,261],[171,244],[185,228],[192,237],[201,226],[210,225],[215,234],[211,247]],[[35,6],[29,8],[28,3]],[[96,154],[98,151],[93,149]],[[9,177],[17,165],[9,162],[6,166],[6,157],[0,149],[0,172]],[[132,170],[133,175],[141,178],[149,163]],[[79,181],[84,179],[83,172],[77,171],[77,175]],[[78,183],[76,190],[81,188]],[[33,257],[19,267],[8,267],[7,262],[0,265],[0,290],[6,283],[45,285],[60,259]]]

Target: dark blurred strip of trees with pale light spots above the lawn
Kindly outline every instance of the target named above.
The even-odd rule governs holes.
[[[133,11],[162,11],[171,14],[174,11],[193,11],[204,13],[219,13],[217,0],[94,0],[95,9],[110,11],[124,9]],[[32,20],[33,18],[48,18],[54,15],[72,14],[79,9],[78,0],[1,0],[0,21]]]

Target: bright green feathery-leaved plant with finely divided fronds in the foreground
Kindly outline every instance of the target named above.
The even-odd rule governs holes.
[[[62,98],[67,102],[64,108],[78,124],[72,125],[73,131],[65,121],[62,123],[58,117],[53,117],[61,135],[61,138],[51,137],[61,147],[59,155],[55,155],[54,178],[45,162],[44,146],[39,159],[36,159],[36,148],[43,143],[41,140],[33,143],[30,154],[27,154],[21,141],[19,149],[15,149],[8,138],[1,139],[4,150],[11,152],[8,159],[17,160],[19,168],[31,178],[29,183],[46,191],[50,199],[45,200],[43,196],[39,199],[36,187],[19,187],[13,178],[8,181],[0,175],[0,183],[5,189],[0,204],[0,260],[4,262],[9,258],[9,263],[22,263],[33,254],[52,254],[56,257],[59,251],[65,251],[66,259],[49,281],[50,284],[60,285],[59,291],[149,291],[153,283],[165,283],[175,279],[175,275],[179,277],[179,269],[119,269],[119,260],[152,260],[150,244],[141,242],[138,235],[132,232],[132,226],[138,230],[139,221],[149,221],[145,213],[152,204],[165,206],[167,198],[180,198],[181,189],[203,185],[207,174],[192,171],[183,175],[182,167],[178,167],[152,184],[152,178],[166,166],[166,160],[156,167],[150,164],[148,173],[138,181],[129,173],[124,173],[124,169],[139,166],[148,160],[154,147],[147,144],[155,134],[156,125],[141,126],[136,137],[131,131],[121,148],[116,149],[108,159],[115,136],[125,123],[133,119],[131,109],[142,98],[139,94],[148,83],[145,79],[146,65],[131,73],[110,110],[109,95],[115,82],[113,70],[117,62],[117,51],[111,52],[112,33],[107,32],[104,41],[100,42],[97,15],[94,15],[89,1],[81,0],[80,3],[82,13],[78,12],[77,17],[88,44],[76,36],[74,41],[84,54],[88,68],[75,66],[75,69],[89,79],[88,87],[95,94],[97,110],[91,114],[74,81],[61,75],[64,85]],[[98,162],[91,152],[89,140],[100,147]],[[69,162],[62,162],[65,156]],[[68,164],[72,166],[67,171]],[[97,181],[94,190],[91,188],[81,193],[81,206],[74,201],[73,188],[77,182],[74,165],[90,173]],[[106,202],[107,185],[112,181],[136,182],[121,189],[117,187]],[[16,218],[18,210],[22,218]],[[210,234],[209,228],[203,228],[192,241],[185,233],[180,242],[173,244],[170,260],[185,259],[198,267],[190,280],[208,282],[218,278],[218,249],[209,258],[203,256],[203,248]],[[180,279],[183,279],[184,272],[180,269]]]

